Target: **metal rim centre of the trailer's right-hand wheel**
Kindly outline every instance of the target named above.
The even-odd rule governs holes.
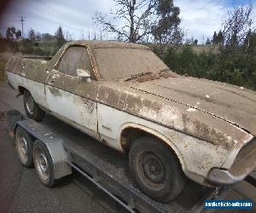
[[[35,151],[35,164],[38,170],[38,175],[43,179],[47,180],[49,178],[49,163],[45,156],[45,153],[37,148]]]

